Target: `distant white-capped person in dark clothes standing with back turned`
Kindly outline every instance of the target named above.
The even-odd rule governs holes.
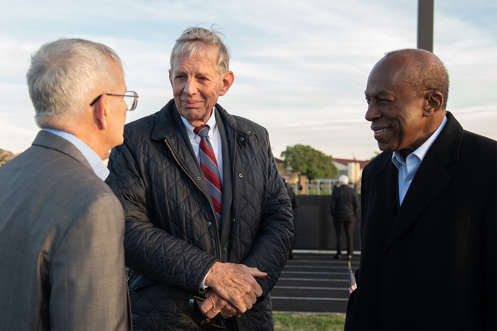
[[[356,191],[348,186],[348,177],[346,175],[339,176],[338,182],[340,186],[333,189],[330,199],[330,212],[336,232],[336,255],[334,258],[341,260],[343,233],[345,233],[347,238],[347,257],[351,260],[354,254],[354,225],[359,201]]]

